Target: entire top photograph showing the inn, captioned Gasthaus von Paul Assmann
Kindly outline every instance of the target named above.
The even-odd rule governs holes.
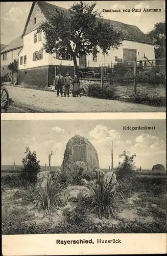
[[[1,2],[1,113],[165,112],[165,1]]]

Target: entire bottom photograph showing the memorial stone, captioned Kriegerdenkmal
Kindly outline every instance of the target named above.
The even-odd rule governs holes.
[[[2,234],[165,233],[165,120],[2,120]]]

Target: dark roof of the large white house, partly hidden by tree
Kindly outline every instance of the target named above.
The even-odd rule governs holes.
[[[65,9],[65,8],[62,8],[62,7],[59,7],[59,6],[55,6],[55,5],[46,3],[46,2],[33,2],[22,36],[26,32],[26,28],[27,28],[27,25],[28,25],[28,22],[29,22],[29,19],[30,19],[31,13],[33,11],[35,3],[38,4],[39,8],[41,9],[43,15],[45,16],[45,18],[47,20],[50,19],[51,15],[55,14],[57,8],[59,10],[65,11],[66,13],[69,12],[68,9]],[[153,45],[150,38],[147,35],[145,35],[136,26],[125,24],[125,23],[122,23],[122,22],[117,22],[115,20],[110,20],[110,19],[103,19],[103,20],[109,21],[113,25],[113,27],[116,31],[122,32],[123,33],[123,38],[122,39],[130,40],[130,41],[136,41],[136,42],[142,42],[142,43],[145,43],[145,44],[152,44]]]

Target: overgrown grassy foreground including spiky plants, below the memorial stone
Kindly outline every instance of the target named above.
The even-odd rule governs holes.
[[[164,176],[136,175],[117,190],[104,179],[90,184],[87,193],[68,197],[56,180],[52,184],[48,178],[39,196],[33,186],[3,179],[2,233],[166,232]]]

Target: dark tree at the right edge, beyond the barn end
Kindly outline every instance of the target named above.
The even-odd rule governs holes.
[[[165,23],[156,23],[154,29],[147,36],[156,45],[155,58],[165,58]]]

